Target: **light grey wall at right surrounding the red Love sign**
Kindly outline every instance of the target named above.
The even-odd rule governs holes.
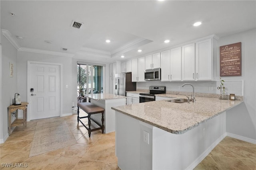
[[[227,111],[226,130],[256,140],[256,29],[221,37],[218,46],[238,42],[242,42],[242,76],[223,80],[244,80],[244,104]]]

